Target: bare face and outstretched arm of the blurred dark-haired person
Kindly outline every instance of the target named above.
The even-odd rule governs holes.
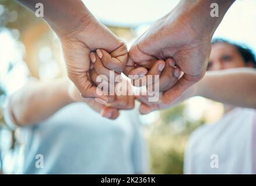
[[[149,103],[145,97],[138,96],[137,99],[142,102],[140,112],[146,114],[153,110],[169,108],[192,96],[203,96],[222,102],[226,111],[234,106],[256,109],[256,71],[253,67],[253,62],[246,63],[232,45],[214,44],[209,58],[209,71],[201,81],[169,104]]]

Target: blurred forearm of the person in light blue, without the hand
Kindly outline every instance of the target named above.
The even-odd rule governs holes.
[[[13,123],[24,126],[47,119],[69,103],[68,80],[34,82],[10,96],[8,110]]]

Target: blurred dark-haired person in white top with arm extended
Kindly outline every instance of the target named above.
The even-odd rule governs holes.
[[[140,112],[168,108],[192,96],[222,102],[225,115],[192,134],[184,159],[185,174],[256,174],[256,60],[240,45],[213,40],[204,78],[168,106],[147,103]]]

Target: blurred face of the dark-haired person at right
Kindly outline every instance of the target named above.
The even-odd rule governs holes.
[[[226,43],[212,45],[208,70],[224,70],[237,67],[251,67],[247,65],[236,47]]]

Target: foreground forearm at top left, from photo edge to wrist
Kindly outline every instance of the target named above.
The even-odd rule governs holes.
[[[36,4],[43,3],[44,17],[51,28],[58,34],[70,33],[81,22],[89,24],[92,14],[80,0],[16,0],[33,12],[36,12]]]

